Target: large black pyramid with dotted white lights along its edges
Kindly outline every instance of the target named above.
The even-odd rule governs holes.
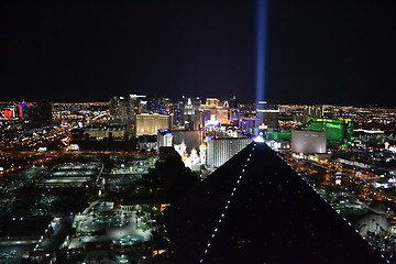
[[[264,143],[251,143],[166,213],[174,263],[386,263]]]

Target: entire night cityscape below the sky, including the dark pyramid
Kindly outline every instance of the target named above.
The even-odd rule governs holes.
[[[201,102],[0,101],[0,258],[396,263],[395,109]]]

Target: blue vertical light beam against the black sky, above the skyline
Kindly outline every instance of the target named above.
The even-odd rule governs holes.
[[[267,0],[256,0],[256,101],[264,101]]]

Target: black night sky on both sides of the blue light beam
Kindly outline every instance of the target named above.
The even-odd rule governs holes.
[[[270,1],[266,100],[395,107],[396,1]],[[0,100],[255,100],[255,1],[0,3]]]

